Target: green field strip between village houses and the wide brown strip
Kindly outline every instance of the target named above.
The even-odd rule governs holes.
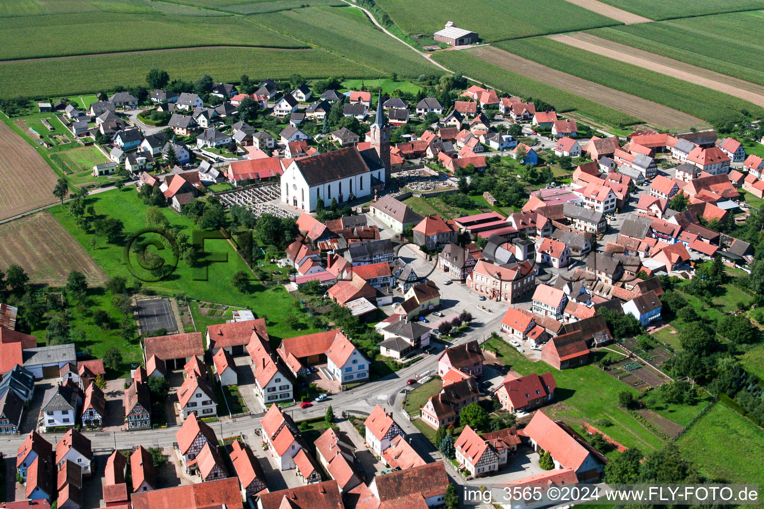
[[[639,124],[641,121],[616,109],[598,104],[575,95],[573,92],[558,89],[552,85],[537,82],[516,72],[508,71],[493,63],[471,55],[469,51],[442,51],[432,56],[454,72],[461,72],[482,83],[523,98],[539,98],[555,106],[558,112],[578,111],[595,120],[610,125]]]

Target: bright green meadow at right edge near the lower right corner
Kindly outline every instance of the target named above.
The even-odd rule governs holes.
[[[719,437],[721,430],[724,439]],[[727,482],[764,484],[761,462],[751,461],[764,450],[764,433],[722,403],[704,414],[679,438],[678,445],[704,475]]]

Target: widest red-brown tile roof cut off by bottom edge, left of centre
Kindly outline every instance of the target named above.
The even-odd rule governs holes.
[[[243,509],[235,477],[194,485],[141,491],[131,497],[133,509]],[[276,508],[278,509],[278,507]]]

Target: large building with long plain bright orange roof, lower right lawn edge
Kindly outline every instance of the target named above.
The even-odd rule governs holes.
[[[555,469],[572,469],[578,482],[597,482],[602,478],[607,458],[562,420],[553,421],[537,411],[523,433],[534,450],[543,449],[552,455]]]

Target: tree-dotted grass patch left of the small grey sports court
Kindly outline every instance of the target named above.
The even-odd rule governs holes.
[[[142,362],[141,345],[138,338],[134,340],[125,340],[120,336],[119,324],[123,318],[118,308],[112,304],[113,295],[106,292],[102,287],[88,288],[86,305],[84,308],[79,303],[69,298],[69,322],[71,327],[71,340],[76,345],[78,352],[89,351],[95,359],[102,359],[106,350],[114,346],[122,354],[122,366],[117,372],[110,372],[107,378],[123,378],[130,375],[131,364]],[[92,313],[96,309],[106,311],[109,316],[108,329],[103,329],[100,324],[95,324],[92,319]],[[40,324],[38,330],[33,330],[32,334],[37,337],[38,343],[47,344],[46,327],[52,313],[45,316],[45,320]]]

